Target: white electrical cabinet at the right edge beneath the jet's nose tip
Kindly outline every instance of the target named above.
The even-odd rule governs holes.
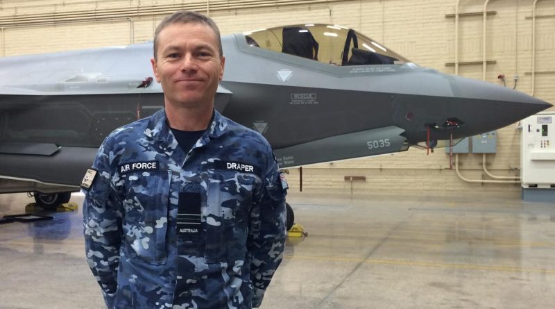
[[[520,167],[522,187],[555,188],[555,112],[522,120]]]

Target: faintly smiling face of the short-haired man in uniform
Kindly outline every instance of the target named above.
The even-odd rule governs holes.
[[[166,103],[188,108],[212,106],[225,64],[212,28],[198,23],[170,24],[159,33],[157,42],[156,59],[151,62]]]

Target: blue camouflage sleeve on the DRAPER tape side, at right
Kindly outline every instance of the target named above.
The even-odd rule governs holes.
[[[262,187],[255,192],[250,211],[248,257],[254,285],[253,307],[262,303],[266,287],[283,258],[285,244],[285,194],[278,164],[268,160]]]

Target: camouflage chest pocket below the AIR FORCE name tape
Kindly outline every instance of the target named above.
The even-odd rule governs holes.
[[[169,171],[130,172],[121,176],[123,237],[126,254],[153,265],[167,260]]]

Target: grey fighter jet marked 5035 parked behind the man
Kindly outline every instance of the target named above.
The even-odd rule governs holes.
[[[419,67],[352,29],[301,24],[223,37],[216,109],[281,168],[407,150],[512,124],[551,104]],[[163,106],[152,43],[0,59],[0,192],[69,201],[114,128]]]

